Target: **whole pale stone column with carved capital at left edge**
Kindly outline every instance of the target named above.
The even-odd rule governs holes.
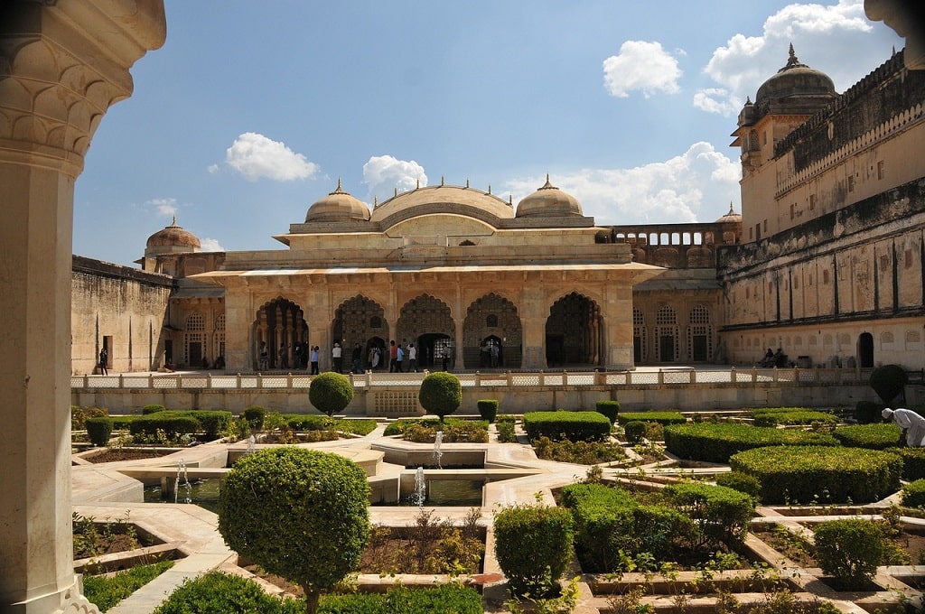
[[[0,611],[89,613],[71,554],[74,181],[161,0],[0,4]]]

